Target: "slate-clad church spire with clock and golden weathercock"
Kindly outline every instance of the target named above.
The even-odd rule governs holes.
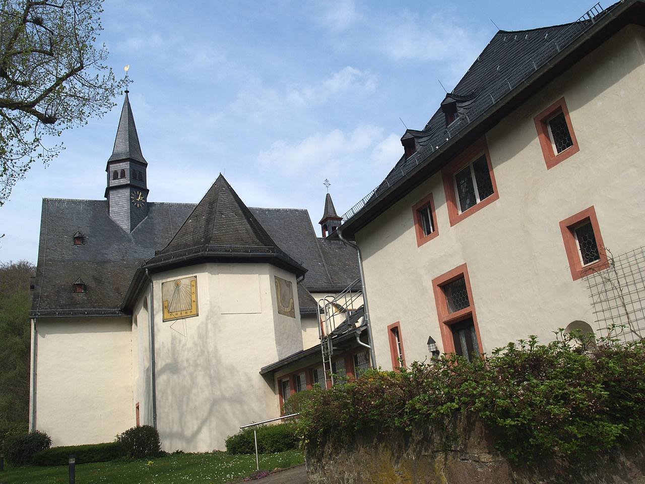
[[[108,173],[105,197],[108,199],[110,218],[128,233],[148,215],[146,168],[148,163],[141,154],[137,127],[126,91],[114,149],[105,168]]]

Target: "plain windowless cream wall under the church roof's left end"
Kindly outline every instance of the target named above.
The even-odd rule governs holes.
[[[132,427],[130,321],[36,320],[35,428],[52,445],[111,442]]]

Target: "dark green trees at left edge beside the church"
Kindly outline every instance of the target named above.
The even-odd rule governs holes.
[[[28,421],[33,275],[27,261],[0,264],[0,423]]]

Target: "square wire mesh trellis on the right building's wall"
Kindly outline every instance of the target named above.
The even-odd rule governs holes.
[[[597,331],[607,336],[617,325],[618,338],[637,341],[645,337],[645,247],[607,256],[608,268],[585,277]]]

